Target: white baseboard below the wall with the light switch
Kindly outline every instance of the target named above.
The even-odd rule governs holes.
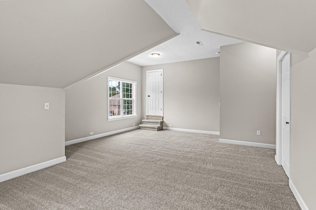
[[[31,172],[35,172],[35,171],[38,171],[40,169],[56,165],[58,163],[62,163],[64,161],[66,161],[66,156],[59,157],[59,158],[52,159],[52,160],[48,160],[46,162],[42,162],[42,163],[39,163],[39,164],[36,164],[33,166],[28,166],[26,168],[18,169],[18,170],[11,171],[11,172],[8,172],[5,174],[1,174],[0,175],[0,182],[10,180],[10,179],[13,179],[13,178],[16,178],[16,177],[19,177],[19,176],[22,176],[22,175],[25,175],[25,174],[28,174]]]

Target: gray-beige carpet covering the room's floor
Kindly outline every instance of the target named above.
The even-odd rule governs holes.
[[[66,147],[67,161],[0,183],[5,210],[299,210],[275,150],[133,130]]]

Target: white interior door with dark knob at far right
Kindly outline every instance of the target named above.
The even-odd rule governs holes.
[[[281,88],[281,165],[285,174],[290,173],[290,54],[282,60]]]

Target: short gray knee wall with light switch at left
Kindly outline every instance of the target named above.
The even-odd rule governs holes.
[[[0,84],[0,145],[0,174],[63,157],[65,92]]]

